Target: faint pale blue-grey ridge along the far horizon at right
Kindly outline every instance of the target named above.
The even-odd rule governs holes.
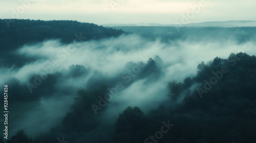
[[[162,25],[160,23],[127,23],[127,24],[103,24],[103,27],[124,27],[124,26],[148,26],[148,27],[256,27],[256,21],[232,20],[232,21],[207,21],[200,23],[188,23],[185,25]]]

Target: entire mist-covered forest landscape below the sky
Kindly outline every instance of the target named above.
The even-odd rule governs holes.
[[[256,141],[255,27],[2,19],[0,29],[13,113],[0,142]]]

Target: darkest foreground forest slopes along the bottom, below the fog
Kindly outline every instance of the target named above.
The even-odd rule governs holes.
[[[119,114],[115,133],[99,137],[98,142],[253,142],[256,140],[255,77],[256,57],[245,53],[230,54],[227,59],[216,57],[208,64],[202,62],[196,77],[187,77],[184,82],[173,80],[166,85],[169,87],[166,96],[174,101],[182,98],[182,102],[161,105],[147,114],[139,107],[127,107]],[[105,122],[93,113],[90,105],[97,104],[97,97],[105,93],[103,86],[79,90],[72,111],[61,125],[33,141],[24,132],[18,132],[8,143],[18,142],[16,139],[52,142],[56,141],[56,134],[65,135],[65,140],[70,142],[90,142],[84,140],[83,133]]]

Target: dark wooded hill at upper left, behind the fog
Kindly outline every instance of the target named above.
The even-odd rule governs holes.
[[[117,37],[123,33],[122,30],[71,20],[13,19],[8,27],[5,19],[0,19],[0,53],[3,53],[0,65],[21,67],[37,59],[38,57],[25,58],[14,54],[14,51],[24,44],[35,44],[49,39],[72,43],[74,40],[80,42]]]

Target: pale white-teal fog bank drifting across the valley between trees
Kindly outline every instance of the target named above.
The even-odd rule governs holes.
[[[81,43],[63,44],[58,39],[52,39],[23,45],[15,53],[24,57],[37,57],[37,60],[18,69],[1,68],[1,84],[15,83],[13,86],[23,87],[26,91],[26,94],[20,92],[19,96],[33,95],[38,98],[10,104],[13,115],[10,117],[9,135],[20,129],[32,136],[48,132],[51,127],[60,124],[70,111],[77,90],[92,90],[102,84],[113,88],[117,83],[122,83],[123,88],[108,101],[107,106],[97,110],[97,116],[104,120],[104,126],[98,126],[84,136],[102,130],[105,126],[113,126],[119,113],[127,106],[138,106],[147,113],[160,104],[168,105],[172,103],[168,97],[168,82],[183,82],[186,77],[194,77],[201,61],[207,63],[217,56],[227,58],[230,53],[241,52],[246,44],[246,41],[218,41],[213,40],[213,37],[202,41],[176,39],[164,42],[160,37],[152,40],[138,34],[126,34]],[[255,49],[245,52],[256,54]],[[77,64],[84,68],[79,66],[73,70],[70,67]],[[129,71],[132,73],[129,74]],[[52,77],[46,77],[45,73]],[[34,75],[45,79],[30,93],[28,83],[35,85]],[[48,82],[49,78],[53,78],[54,82]],[[45,86],[52,89],[42,88]],[[17,106],[22,108],[17,110]],[[16,117],[18,113],[23,115]],[[110,130],[113,131],[113,127]]]

